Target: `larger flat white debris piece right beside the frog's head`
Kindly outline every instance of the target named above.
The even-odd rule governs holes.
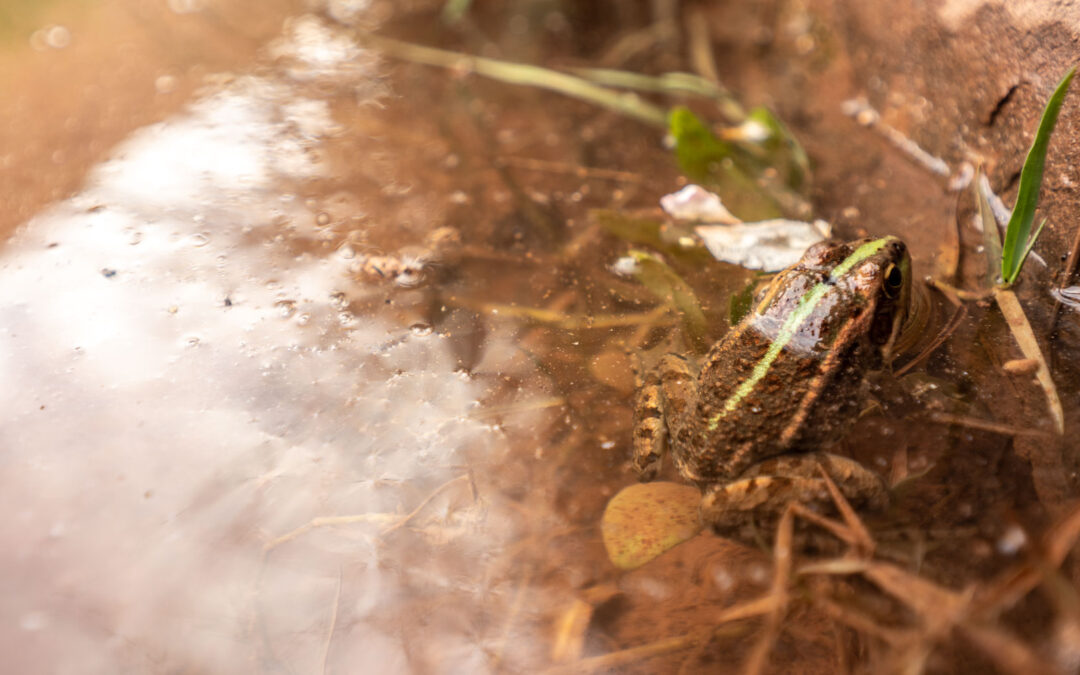
[[[717,260],[766,272],[778,272],[795,265],[802,252],[828,239],[831,230],[824,220],[804,222],[783,218],[694,228]]]

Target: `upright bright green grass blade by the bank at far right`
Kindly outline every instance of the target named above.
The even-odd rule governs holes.
[[[1021,170],[1016,205],[1013,206],[1012,217],[1009,218],[1004,246],[1001,251],[1001,278],[1007,285],[1016,281],[1021,266],[1024,265],[1024,259],[1038,237],[1038,232],[1035,237],[1030,237],[1030,234],[1031,224],[1035,221],[1035,210],[1039,204],[1039,190],[1042,187],[1047,148],[1050,145],[1050,135],[1057,123],[1057,113],[1062,110],[1062,103],[1065,100],[1065,94],[1069,90],[1074,75],[1076,75],[1076,67],[1072,67],[1065,75],[1050,100],[1047,102],[1047,107],[1042,111],[1042,120],[1039,122],[1039,131],[1035,134],[1031,149],[1028,150],[1027,159],[1024,160],[1024,168]]]

